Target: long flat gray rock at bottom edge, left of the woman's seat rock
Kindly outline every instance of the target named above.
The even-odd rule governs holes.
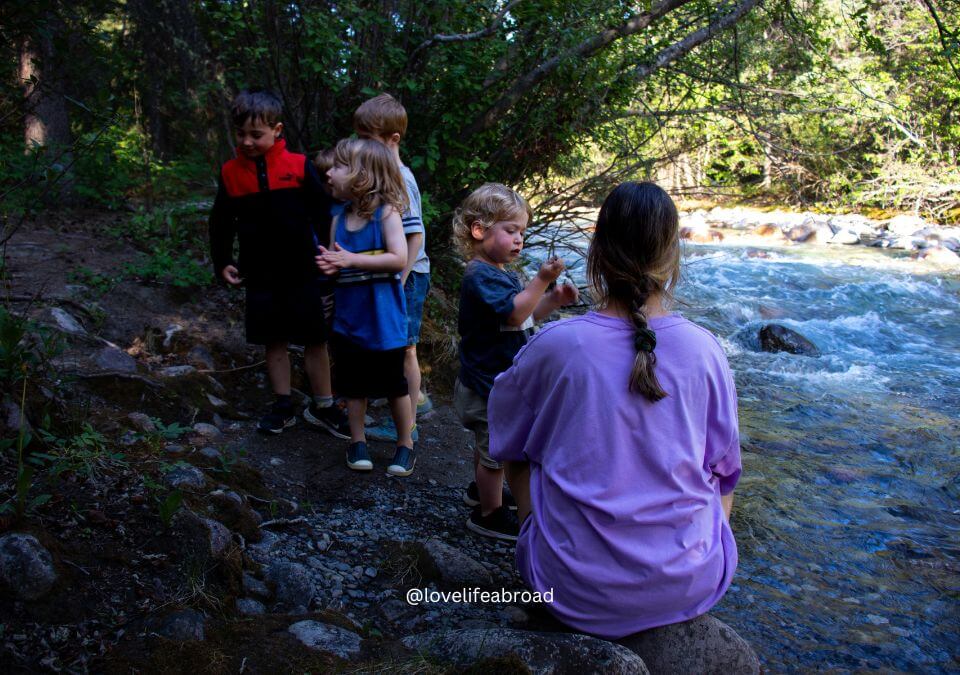
[[[402,642],[407,649],[461,666],[515,654],[537,675],[649,672],[643,660],[626,647],[576,633],[472,628],[420,633]]]

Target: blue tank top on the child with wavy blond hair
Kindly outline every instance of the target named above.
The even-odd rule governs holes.
[[[363,255],[386,253],[383,207],[356,232],[347,230],[347,204],[337,205],[334,240],[340,247]],[[371,351],[407,346],[407,307],[399,272],[346,268],[337,278],[333,330]]]

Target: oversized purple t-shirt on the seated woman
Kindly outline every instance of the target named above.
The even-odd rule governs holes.
[[[737,396],[716,338],[650,319],[668,396],[628,390],[634,330],[591,312],[544,328],[496,379],[490,454],[530,462],[517,567],[567,625],[616,639],[709,610],[737,548],[720,505],[740,476]]]

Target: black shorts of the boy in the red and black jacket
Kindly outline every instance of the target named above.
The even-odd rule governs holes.
[[[290,288],[248,288],[247,342],[323,344],[330,339],[324,299],[332,290],[326,281],[311,281]]]

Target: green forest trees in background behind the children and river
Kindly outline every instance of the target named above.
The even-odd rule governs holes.
[[[80,0],[0,7],[0,218],[128,210],[141,274],[209,281],[203,211],[241,88],[313,153],[387,91],[455,284],[487,180],[541,221],[652,177],[674,194],[960,219],[956,0]],[[116,234],[116,233],[114,233]]]

